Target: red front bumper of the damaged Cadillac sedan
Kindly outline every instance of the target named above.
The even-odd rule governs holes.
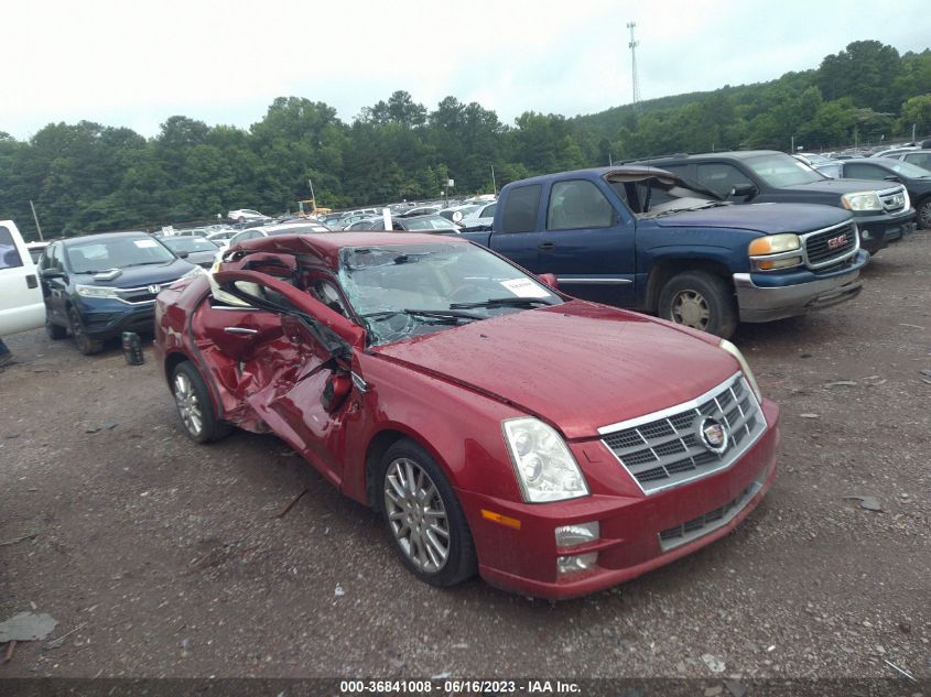
[[[475,538],[479,574],[507,590],[566,599],[630,580],[723,537],[750,514],[776,477],[779,407],[766,400],[762,407],[767,432],[732,467],[652,495],[593,494],[527,504],[457,491]],[[695,529],[695,521],[718,510],[719,518]],[[491,522],[481,511],[520,521],[520,529]],[[556,547],[556,527],[594,521],[600,531],[597,541],[569,551]],[[679,530],[683,534],[676,536]],[[598,554],[593,568],[564,576],[556,571],[559,557],[592,552]]]

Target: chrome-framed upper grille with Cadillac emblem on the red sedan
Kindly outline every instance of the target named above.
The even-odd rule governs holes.
[[[706,420],[724,426],[724,451],[706,444],[701,433]],[[765,431],[762,411],[743,373],[697,400],[598,429],[647,494],[727,469]]]

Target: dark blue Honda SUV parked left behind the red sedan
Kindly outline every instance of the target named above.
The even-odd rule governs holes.
[[[145,232],[108,232],[52,242],[39,260],[45,329],[68,331],[85,356],[122,331],[152,331],[155,296],[203,273]]]

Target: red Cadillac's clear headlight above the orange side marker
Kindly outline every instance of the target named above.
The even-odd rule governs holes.
[[[523,500],[563,501],[588,495],[588,484],[562,436],[532,416],[502,424]]]

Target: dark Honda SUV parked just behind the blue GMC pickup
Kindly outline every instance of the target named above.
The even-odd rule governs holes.
[[[775,150],[671,155],[640,161],[697,182],[738,204],[824,204],[854,214],[872,253],[914,231],[914,209],[899,183],[832,179]]]

